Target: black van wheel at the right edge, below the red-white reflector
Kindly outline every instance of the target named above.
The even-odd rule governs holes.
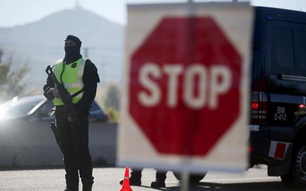
[[[302,188],[306,186],[306,146],[297,146],[293,148],[293,158],[288,174],[280,176],[282,183],[293,188]]]

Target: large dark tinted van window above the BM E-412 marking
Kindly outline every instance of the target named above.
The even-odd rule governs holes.
[[[305,76],[306,22],[273,20],[271,24],[271,72]]]

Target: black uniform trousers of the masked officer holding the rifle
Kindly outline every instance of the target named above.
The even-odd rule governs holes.
[[[56,107],[56,131],[58,146],[63,153],[66,184],[69,188],[79,187],[82,182],[92,181],[92,159],[88,148],[88,116],[78,121],[67,121],[67,109]]]

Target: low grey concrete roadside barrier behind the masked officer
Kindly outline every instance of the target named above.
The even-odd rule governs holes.
[[[90,123],[89,146],[95,166],[114,165],[117,123]],[[0,129],[0,169],[62,167],[63,155],[49,127]]]

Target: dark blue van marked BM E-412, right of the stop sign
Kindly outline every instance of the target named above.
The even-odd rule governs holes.
[[[306,13],[255,8],[250,167],[306,185]]]

